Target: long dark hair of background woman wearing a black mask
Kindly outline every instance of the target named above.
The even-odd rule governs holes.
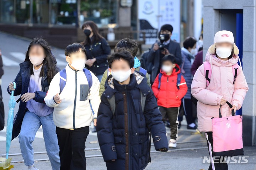
[[[86,21],[83,25],[82,25],[82,29],[84,29],[86,26],[90,26],[92,29],[92,32],[94,33],[94,35],[92,36],[92,41],[89,37],[85,37],[85,40],[83,42],[81,42],[81,44],[83,45],[91,45],[94,42],[99,42],[103,37],[99,34],[98,32],[98,26],[96,25],[95,22],[93,21]]]

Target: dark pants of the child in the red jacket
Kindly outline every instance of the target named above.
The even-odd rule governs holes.
[[[179,108],[164,108],[162,106],[159,106],[159,110],[162,114],[162,120],[164,121],[167,116],[170,122],[171,139],[176,139],[178,136],[177,116],[178,116]]]

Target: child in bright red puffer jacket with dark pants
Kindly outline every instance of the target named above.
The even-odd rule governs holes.
[[[187,84],[181,75],[180,67],[175,62],[172,54],[162,58],[162,67],[156,77],[152,90],[158,100],[162,120],[168,117],[171,127],[171,139],[169,147],[177,146],[178,121],[177,116],[181,100],[187,93]]]

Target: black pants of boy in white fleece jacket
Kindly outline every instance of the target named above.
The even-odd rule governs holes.
[[[60,148],[60,170],[85,170],[85,141],[89,126],[75,130],[56,127]]]

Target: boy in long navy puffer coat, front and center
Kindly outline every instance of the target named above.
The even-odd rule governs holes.
[[[97,117],[97,136],[110,170],[142,170],[150,162],[151,131],[155,149],[166,152],[162,116],[147,79],[135,72],[134,58],[125,49],[108,57],[106,81]]]

